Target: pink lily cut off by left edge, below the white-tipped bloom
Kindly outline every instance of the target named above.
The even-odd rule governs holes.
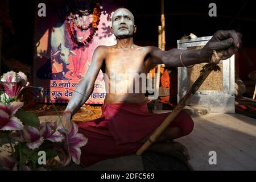
[[[22,130],[22,122],[14,117],[16,111],[23,106],[23,102],[0,103],[0,130]]]

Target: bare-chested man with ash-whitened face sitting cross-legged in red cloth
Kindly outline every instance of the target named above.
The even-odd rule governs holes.
[[[231,57],[241,46],[241,34],[236,31],[217,31],[207,45],[200,50],[183,51],[171,49],[161,51],[157,47],[140,47],[134,44],[133,34],[136,32],[134,16],[127,9],[118,9],[112,16],[112,32],[117,38],[114,46],[99,46],[93,53],[92,64],[86,76],[79,82],[63,115],[63,122],[69,128],[72,115],[88,100],[93,92],[97,75],[105,65],[105,73],[110,78],[111,72],[147,73],[152,65],[166,64],[171,67],[183,67],[192,64],[208,63],[213,50],[222,52],[221,59]],[[181,60],[182,63],[181,63]],[[122,85],[129,88],[128,77],[122,80],[106,81],[106,86]],[[141,82],[139,85],[141,86]],[[141,91],[141,89],[140,89]],[[81,94],[80,94],[81,93]],[[90,166],[100,160],[121,155],[133,154],[156,127],[163,122],[167,114],[148,113],[144,93],[108,92],[102,105],[101,118],[81,123],[79,132],[88,138],[86,146],[82,147],[81,163]],[[177,115],[170,127],[160,135],[156,143],[148,150],[177,156],[188,160],[187,149],[180,143],[173,142],[175,138],[191,133],[193,121],[182,112]]]

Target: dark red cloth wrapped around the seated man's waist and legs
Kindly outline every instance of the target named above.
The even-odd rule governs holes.
[[[81,164],[91,166],[101,160],[129,155],[141,146],[139,140],[145,138],[158,127],[167,115],[148,113],[146,102],[125,104],[104,104],[98,119],[80,123],[79,133],[88,138],[81,148]],[[169,127],[181,128],[178,138],[193,130],[193,120],[181,111]]]

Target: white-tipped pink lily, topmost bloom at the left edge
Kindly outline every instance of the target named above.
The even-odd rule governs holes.
[[[5,89],[9,98],[17,96],[20,90],[28,84],[27,76],[22,72],[10,71],[1,76],[0,86]]]

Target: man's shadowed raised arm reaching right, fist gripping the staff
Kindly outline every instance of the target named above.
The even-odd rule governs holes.
[[[166,64],[170,67],[184,67],[208,63],[212,57],[213,50],[221,51],[221,59],[226,60],[236,53],[241,46],[242,35],[233,30],[217,31],[212,39],[202,49],[184,51],[181,49],[171,49],[170,51],[161,51],[159,48],[151,47],[150,63]]]

